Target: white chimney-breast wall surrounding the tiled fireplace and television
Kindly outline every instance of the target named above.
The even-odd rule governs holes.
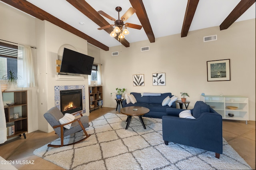
[[[52,128],[44,119],[44,113],[55,106],[54,86],[57,85],[85,85],[86,99],[88,94],[88,76],[83,75],[83,79],[73,79],[74,76],[60,75],[60,77],[68,77],[68,79],[58,79],[56,72],[56,60],[58,59],[58,51],[62,45],[72,45],[78,52],[87,54],[87,41],[67,32],[66,30],[55,26],[48,21],[36,19],[36,36],[38,48],[38,129],[44,132],[51,132]],[[86,102],[86,113],[89,115],[89,102]]]

